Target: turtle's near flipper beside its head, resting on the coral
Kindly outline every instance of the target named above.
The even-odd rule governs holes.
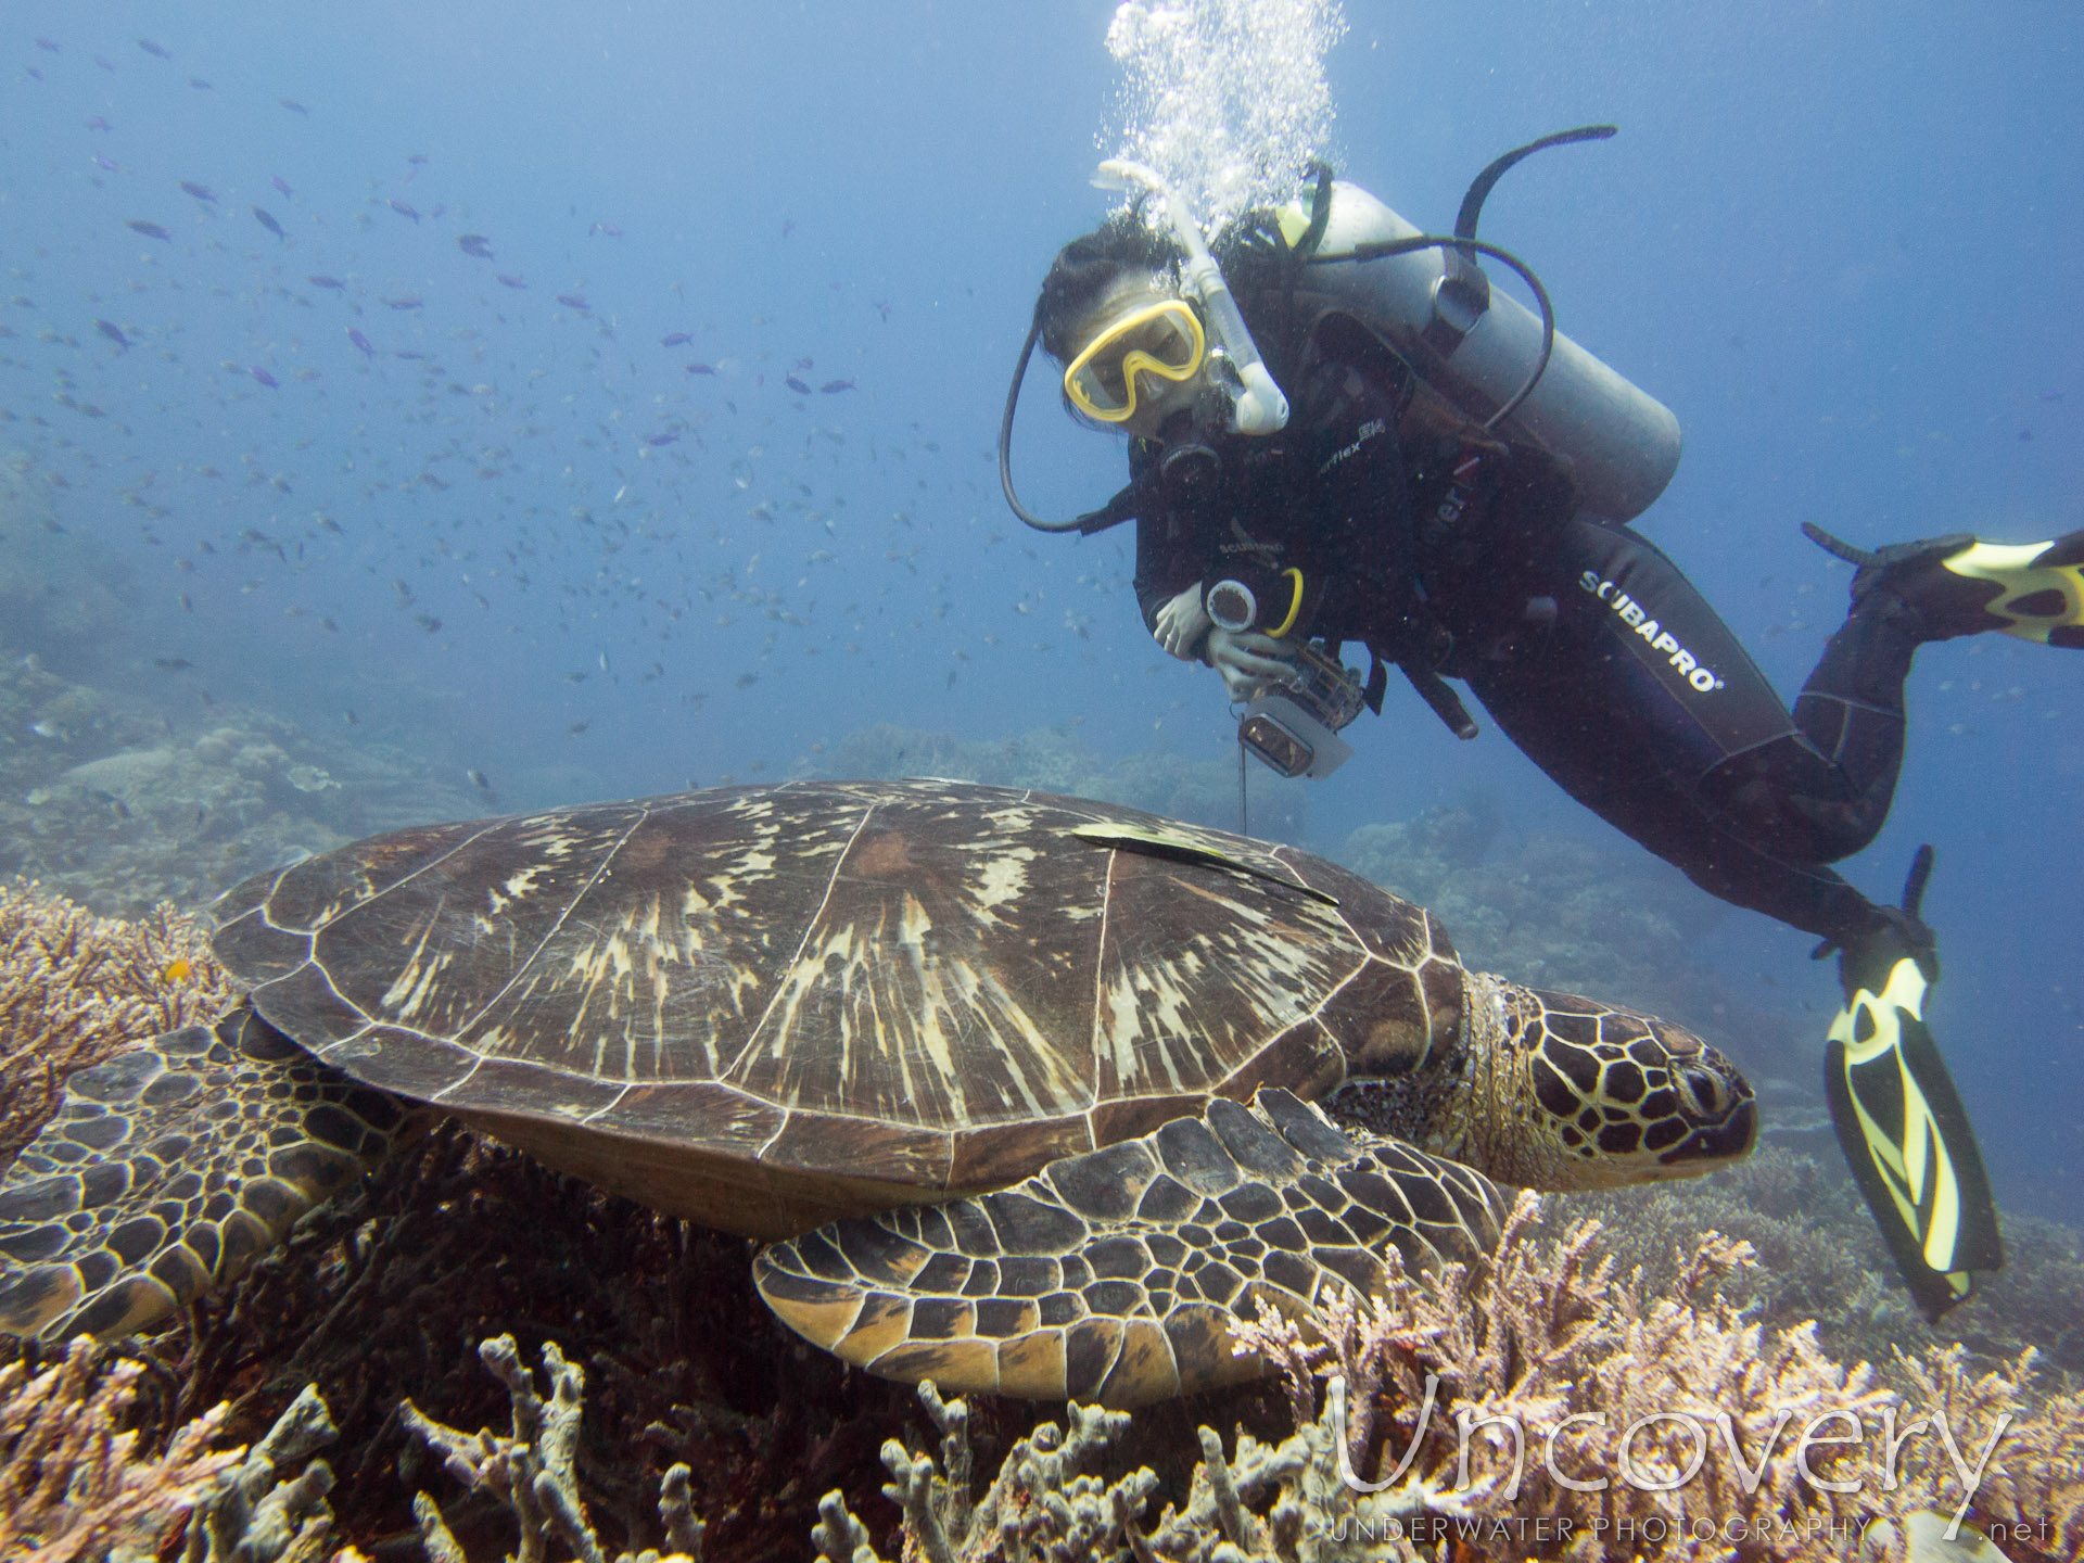
[[[1469,1167],[1348,1136],[1265,1088],[1025,1184],[836,1221],[754,1261],[782,1319],[846,1361],[946,1390],[1132,1407],[1257,1378],[1227,1323],[1328,1280],[1473,1259],[1505,1205]]]

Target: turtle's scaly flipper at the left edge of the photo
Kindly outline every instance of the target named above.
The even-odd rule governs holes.
[[[406,1109],[244,1004],[65,1086],[0,1180],[0,1332],[142,1330],[273,1248],[381,1159]]]

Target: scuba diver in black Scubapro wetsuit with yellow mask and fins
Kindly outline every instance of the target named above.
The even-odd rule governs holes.
[[[1138,202],[1067,244],[1036,300],[1000,425],[1023,521],[1136,521],[1152,638],[1244,702],[1240,744],[1284,775],[1350,754],[1398,669],[1463,738],[1459,679],[1573,798],[1703,890],[1838,952],[1832,1121],[1928,1319],[2003,1263],[1976,1136],[1924,1023],[1938,979],[1915,854],[1878,904],[1830,865],[1874,840],[1903,761],[1917,648],[1988,629],[2084,648],[2084,531],[1855,548],[1853,602],[1792,713],[1665,554],[1628,527],[1678,465],[1678,421],[1555,329],[1517,258],[1475,238],[1492,163],[1453,235],[1419,233],[1315,169],[1307,200],[1246,213],[1211,254],[1152,171],[1102,165]],[[1159,202],[1163,225],[1142,206]],[[1540,315],[1492,292],[1515,269]],[[1130,436],[1130,483],[1052,523],[1013,488],[1034,348],[1080,421]],[[1342,650],[1357,648],[1350,669]]]

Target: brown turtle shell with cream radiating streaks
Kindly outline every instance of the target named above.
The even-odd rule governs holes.
[[[1421,1069],[1463,1009],[1428,913],[1323,859],[954,782],[394,832],[229,892],[215,944],[356,1080],[761,1238]]]

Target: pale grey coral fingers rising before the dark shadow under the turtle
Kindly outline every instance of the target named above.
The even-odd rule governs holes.
[[[411,1400],[398,1407],[404,1425],[442,1455],[450,1475],[473,1490],[490,1492],[515,1517],[521,1544],[513,1553],[513,1563],[544,1563],[550,1557],[552,1536],[581,1563],[606,1563],[600,1538],[579,1500],[577,1446],[586,1373],[577,1363],[565,1361],[554,1340],[546,1340],[542,1369],[550,1378],[550,1400],[544,1400],[536,1394],[536,1375],[521,1365],[513,1336],[481,1342],[477,1355],[506,1386],[513,1407],[506,1436],[486,1430],[458,1432],[423,1415]],[[463,1546],[450,1534],[433,1498],[419,1494],[413,1513],[419,1517],[429,1563],[465,1563]],[[659,1517],[675,1550],[665,1557],[656,1550],[623,1553],[617,1563],[700,1563],[706,1528],[694,1517],[686,1465],[665,1473]]]

